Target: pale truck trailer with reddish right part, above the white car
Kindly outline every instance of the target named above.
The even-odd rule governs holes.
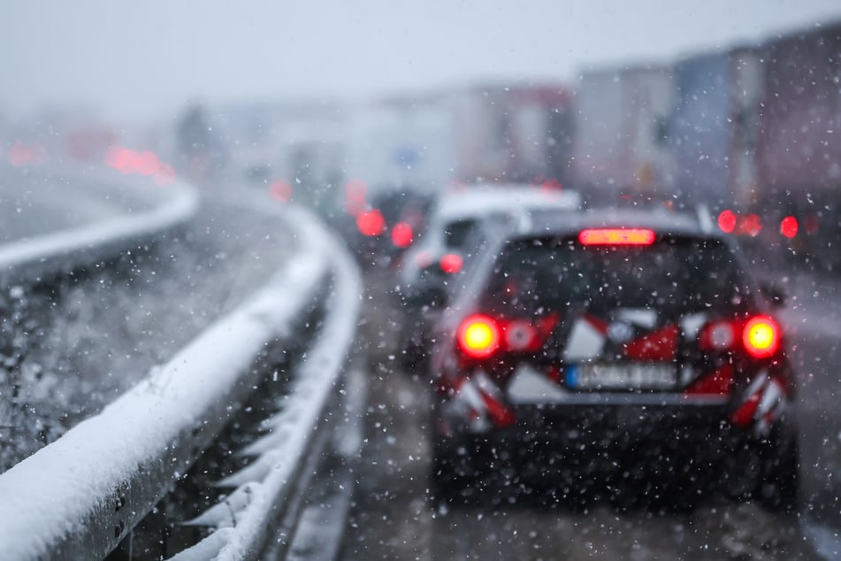
[[[562,84],[473,85],[442,97],[451,114],[456,181],[570,182],[574,124]]]

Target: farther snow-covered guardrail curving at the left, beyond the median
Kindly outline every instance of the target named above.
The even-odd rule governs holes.
[[[195,188],[179,181],[166,188],[140,184],[128,178],[110,179],[92,174],[73,177],[73,181],[87,181],[90,186],[96,186],[103,197],[116,197],[117,194],[109,195],[106,188],[119,182],[122,195],[136,200],[140,208],[120,209],[115,205],[116,215],[0,244],[0,281],[37,281],[51,273],[116,257],[122,250],[150,242],[155,236],[180,226],[195,214],[199,204]],[[73,189],[67,190],[72,193]],[[67,204],[73,206],[72,196]]]

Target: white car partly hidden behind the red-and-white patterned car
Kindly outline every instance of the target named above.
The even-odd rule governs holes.
[[[528,184],[478,184],[439,196],[423,241],[400,265],[401,363],[407,370],[422,370],[432,323],[494,240],[512,228],[529,228],[535,213],[577,211],[579,204],[573,191]]]

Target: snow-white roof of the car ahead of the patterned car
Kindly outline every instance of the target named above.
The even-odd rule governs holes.
[[[482,218],[494,213],[557,209],[575,210],[581,203],[574,191],[521,184],[487,184],[447,191],[438,200],[437,215],[444,221]]]

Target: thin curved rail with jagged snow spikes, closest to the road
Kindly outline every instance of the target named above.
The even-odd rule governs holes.
[[[284,503],[294,492],[291,487],[298,481],[296,473],[313,447],[317,427],[350,353],[362,297],[356,265],[323,228],[315,227],[301,212],[294,214],[295,223],[301,226],[298,234],[330,255],[333,263],[333,292],[327,299],[324,327],[297,366],[294,388],[282,398],[279,413],[264,421],[271,430],[241,450],[242,456],[253,457],[253,461],[218,483],[219,487],[235,488],[233,493],[187,522],[214,527],[215,532],[171,561],[260,557],[271,521],[284,513]]]

